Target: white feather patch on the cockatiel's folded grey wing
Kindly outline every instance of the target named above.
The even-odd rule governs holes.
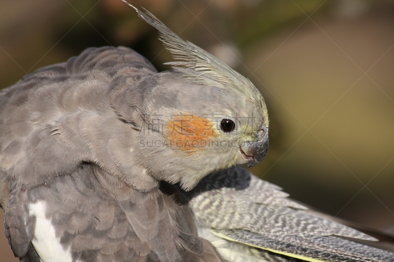
[[[35,251],[42,262],[72,262],[71,246],[64,250],[60,237],[56,237],[51,220],[45,217],[44,201],[29,205],[29,214],[35,216],[34,237],[32,240]]]

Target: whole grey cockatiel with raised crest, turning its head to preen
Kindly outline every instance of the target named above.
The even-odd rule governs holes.
[[[263,96],[136,11],[172,70],[89,48],[0,91],[0,204],[20,261],[394,261],[239,167],[267,153]]]

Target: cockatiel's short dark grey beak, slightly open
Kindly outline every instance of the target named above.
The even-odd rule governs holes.
[[[248,164],[249,167],[256,166],[264,159],[268,151],[268,128],[263,126],[257,133],[257,140],[245,142],[238,148],[236,165]]]

